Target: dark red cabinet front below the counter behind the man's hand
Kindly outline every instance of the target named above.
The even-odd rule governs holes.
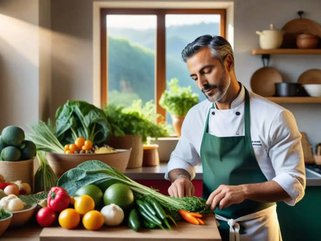
[[[140,183],[146,187],[150,187],[153,189],[159,190],[161,194],[168,195],[168,188],[170,186],[170,182],[167,180],[135,180],[135,182]],[[195,187],[195,196],[202,197],[202,180],[192,180],[192,183]]]

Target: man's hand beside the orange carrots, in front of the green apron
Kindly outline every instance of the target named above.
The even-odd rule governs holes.
[[[246,189],[244,185],[228,186],[221,185],[211,193],[206,201],[207,205],[214,210],[217,205],[219,209],[229,207],[232,204],[243,202],[246,199]]]

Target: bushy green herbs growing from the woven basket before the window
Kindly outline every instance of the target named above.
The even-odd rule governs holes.
[[[157,124],[155,105],[152,101],[142,106],[142,101],[134,101],[128,108],[109,104],[104,106],[104,112],[111,132],[114,136],[141,135],[143,142],[148,137],[159,138],[169,136],[170,126]]]

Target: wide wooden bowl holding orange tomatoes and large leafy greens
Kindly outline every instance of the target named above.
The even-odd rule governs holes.
[[[116,153],[103,154],[64,154],[57,152],[47,152],[46,156],[49,165],[56,174],[57,178],[60,178],[66,171],[77,167],[83,162],[90,160],[101,161],[124,173],[128,165],[132,148],[128,150],[116,149],[116,151]]]

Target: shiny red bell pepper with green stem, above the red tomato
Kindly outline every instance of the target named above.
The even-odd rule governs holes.
[[[47,206],[51,210],[61,212],[68,208],[70,204],[70,196],[68,192],[61,187],[52,187],[48,193]]]

